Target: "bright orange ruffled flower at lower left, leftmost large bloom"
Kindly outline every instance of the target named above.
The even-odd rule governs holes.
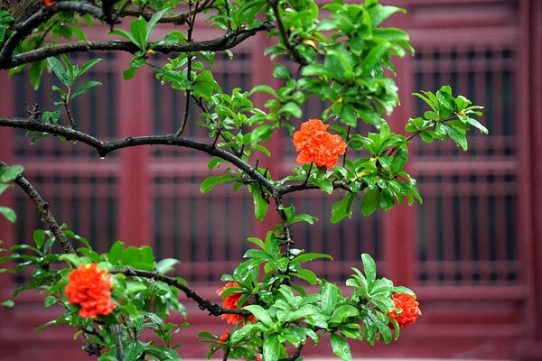
[[[111,301],[111,275],[98,270],[98,264],[81,264],[68,275],[66,296],[71,304],[80,306],[81,317],[106,316],[115,309]]]

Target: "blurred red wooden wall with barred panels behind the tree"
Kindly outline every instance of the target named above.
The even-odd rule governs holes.
[[[413,144],[410,171],[425,199],[423,206],[402,207],[369,218],[354,217],[330,225],[332,200],[318,191],[291,199],[300,211],[322,219],[314,227],[294,228],[296,245],[333,255],[333,264],[314,263],[326,277],[342,282],[360,254],[373,255],[382,274],[418,294],[423,316],[391,346],[352,345],[355,356],[542,359],[542,2],[537,0],[387,1],[406,7],[394,25],[406,29],[416,56],[397,61],[402,106],[389,118],[392,129],[426,110],[410,96],[420,89],[453,86],[476,104],[486,106],[483,123],[491,134],[472,133],[467,153],[453,143]],[[202,24],[202,37],[213,36]],[[217,79],[226,88],[251,88],[270,79],[272,63],[259,58],[269,45],[263,34],[243,44],[234,61],[218,57]],[[105,54],[92,54],[104,57]],[[79,55],[79,60],[88,55]],[[183,111],[182,95],[141,71],[129,83],[117,76],[129,56],[115,54],[91,74],[104,86],[80,97],[73,109],[82,130],[100,138],[172,133]],[[51,104],[51,79],[34,93],[22,77],[0,73],[3,116],[24,116],[24,102]],[[256,99],[260,106],[265,97]],[[313,101],[304,118],[318,117]],[[193,125],[187,134],[206,136]],[[270,143],[276,162],[260,159],[275,177],[294,164],[287,134]],[[167,147],[121,150],[101,160],[81,144],[44,140],[33,147],[23,132],[0,129],[0,159],[23,164],[55,216],[99,251],[121,239],[132,245],[154,245],[160,257],[182,260],[177,271],[203,294],[214,297],[220,275],[231,273],[248,247],[248,236],[263,236],[276,223],[252,220],[252,200],[227,186],[202,196],[201,180],[209,175],[203,154]],[[267,164],[266,164],[267,162]],[[40,221],[22,192],[0,199],[20,216],[12,227],[0,220],[0,238],[8,243],[31,239]],[[0,300],[9,298],[14,282],[2,275]],[[86,359],[70,340],[70,330],[33,333],[51,318],[33,294],[0,308],[0,359]],[[190,335],[195,329],[223,333],[224,325],[186,302],[192,329],[179,341],[184,356],[204,357],[205,345]],[[51,342],[54,340],[54,342]],[[325,344],[322,342],[322,344]],[[64,348],[68,347],[68,348]],[[330,355],[322,345],[313,354]],[[309,357],[310,358],[310,357]]]

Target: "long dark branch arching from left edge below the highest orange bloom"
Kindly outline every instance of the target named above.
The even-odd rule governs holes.
[[[105,157],[107,153],[116,151],[117,149],[128,148],[138,145],[173,145],[182,146],[186,148],[195,149],[203,153],[208,153],[212,156],[222,158],[223,160],[232,163],[241,171],[248,174],[253,180],[265,187],[266,190],[272,193],[272,195],[278,195],[276,186],[266,177],[261,175],[256,169],[252,168],[247,162],[243,162],[238,156],[224,151],[212,144],[202,143],[194,141],[192,139],[185,139],[175,134],[165,135],[148,135],[131,137],[128,136],[123,139],[117,139],[112,141],[101,141],[89,134],[79,132],[78,130],[71,129],[70,127],[62,125],[53,125],[51,123],[38,122],[32,118],[18,118],[18,117],[0,117],[0,125],[12,126],[14,128],[21,128],[26,130],[33,130],[37,132],[45,132],[50,134],[59,134],[64,136],[70,141],[79,141],[81,143],[88,144],[92,148],[98,151],[100,157]]]

